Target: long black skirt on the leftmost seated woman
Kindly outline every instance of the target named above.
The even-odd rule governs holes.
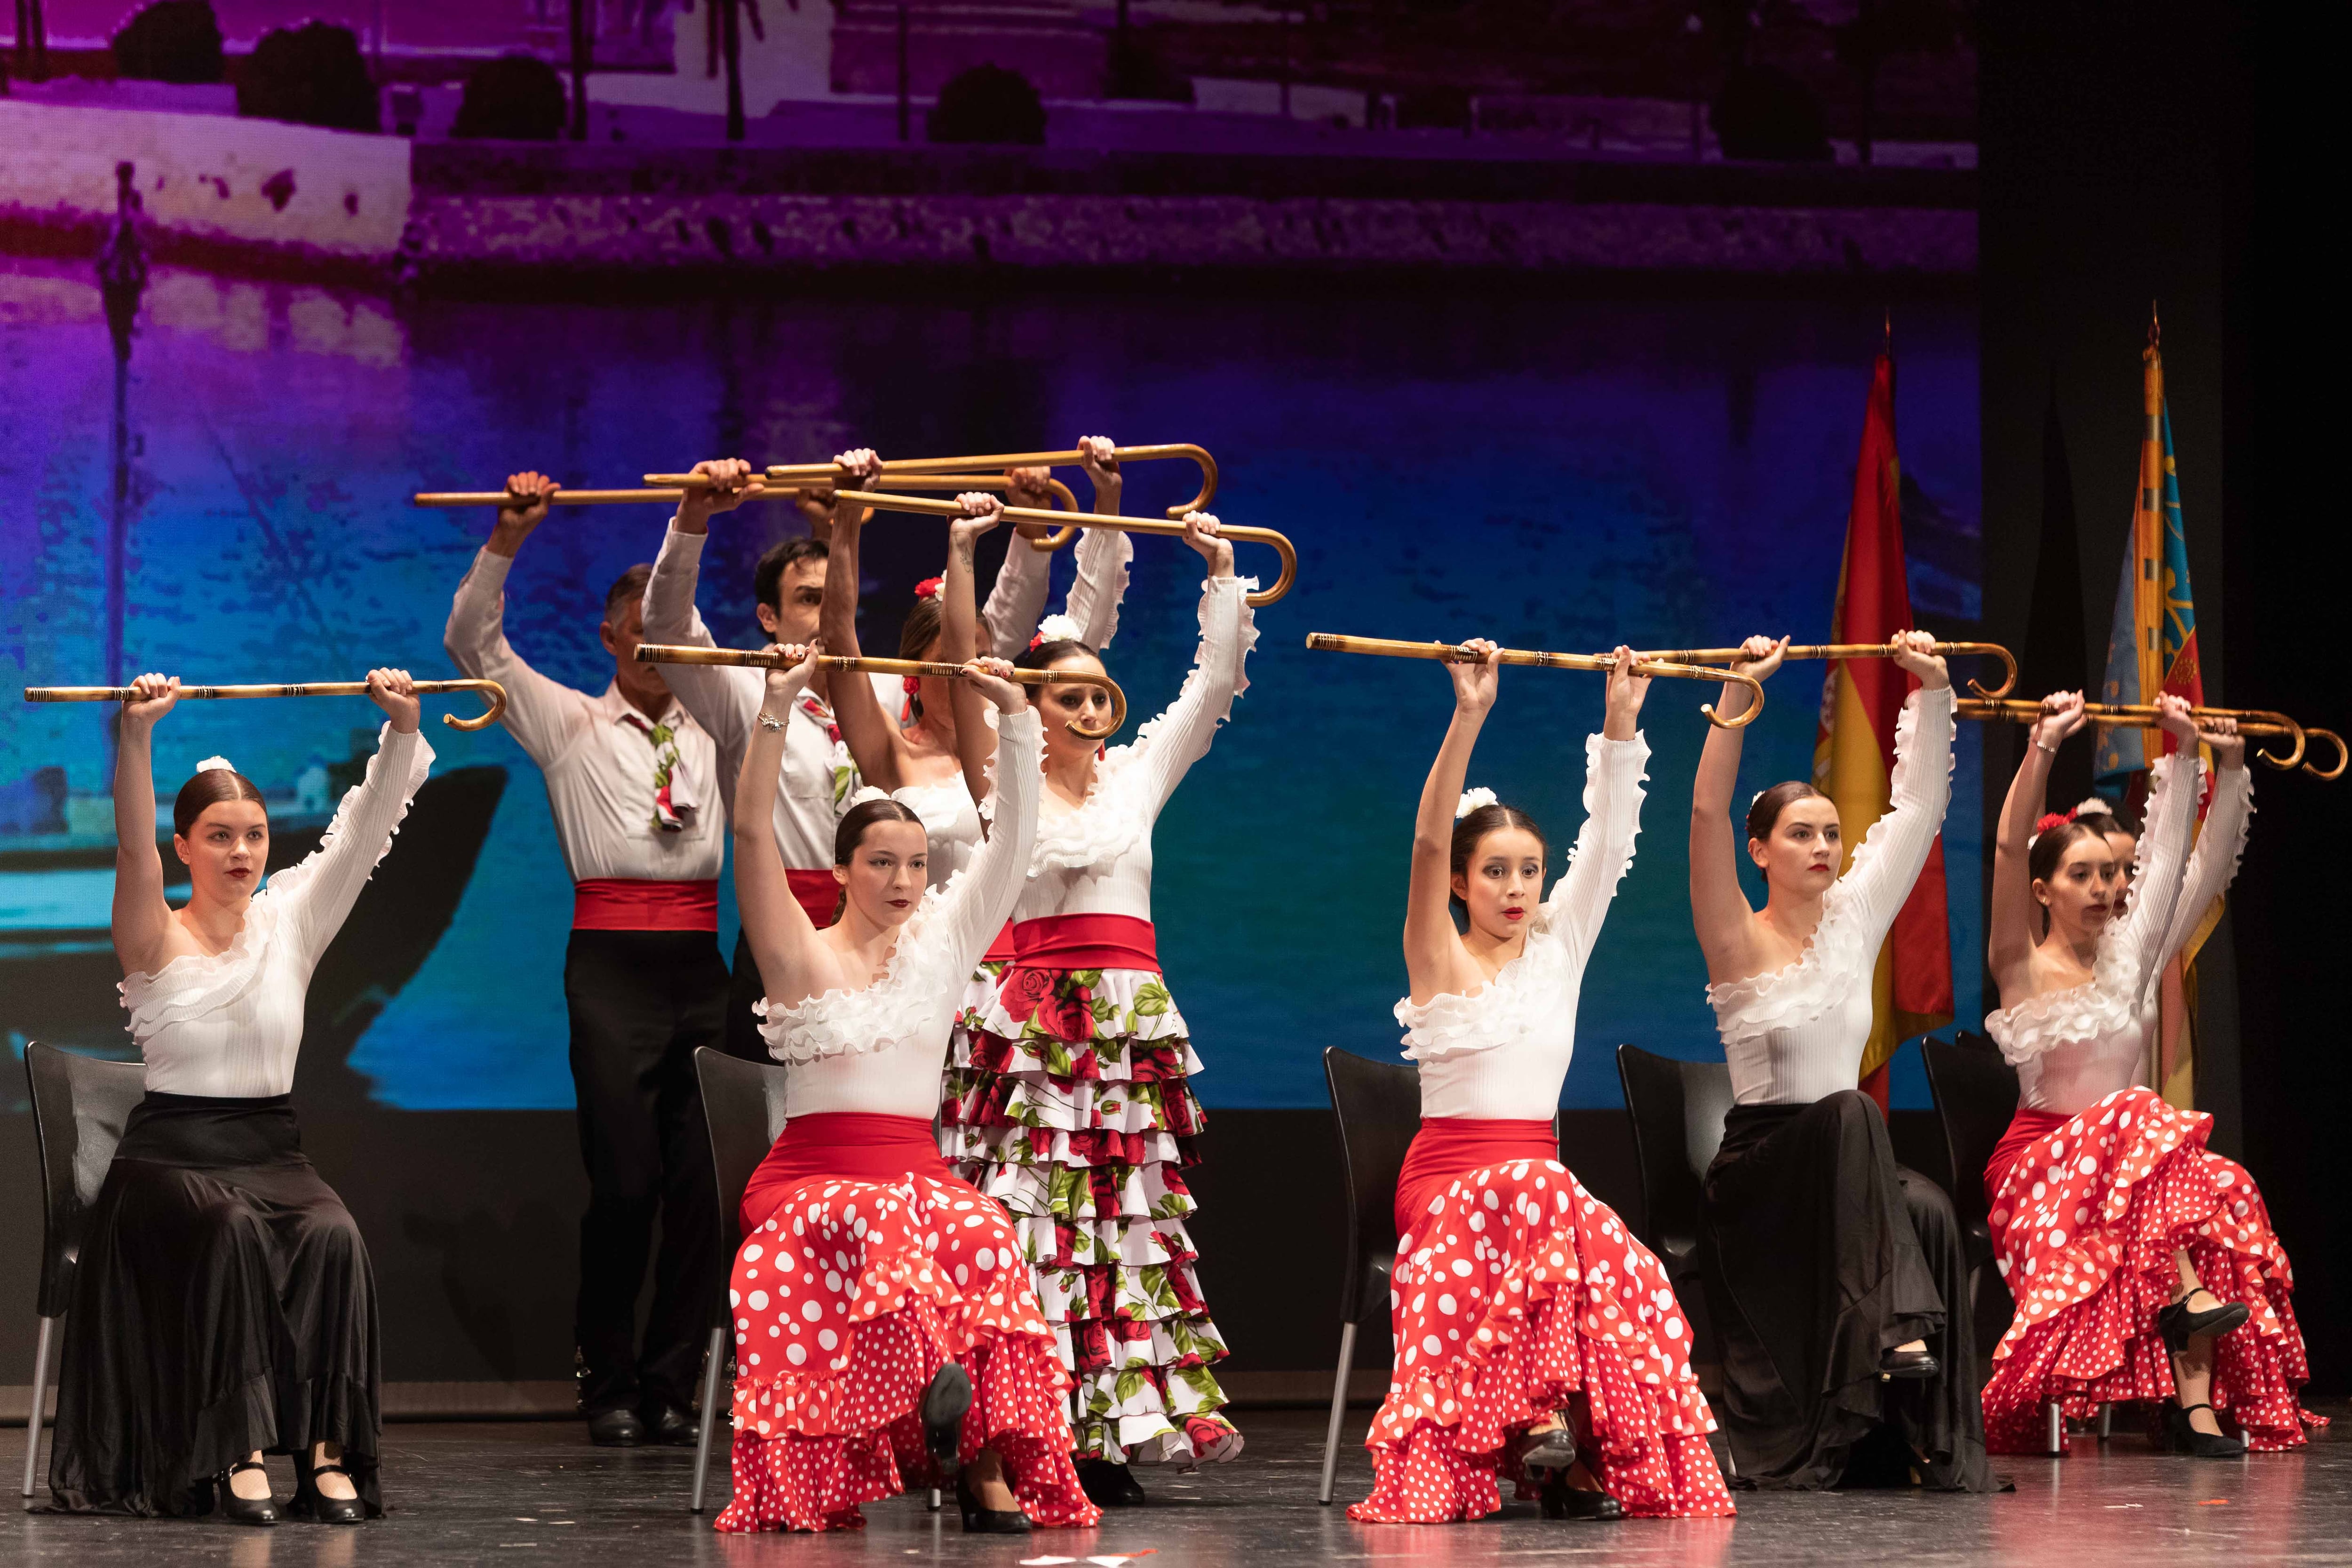
[[[247,1453],[329,1441],[376,1516],[379,1382],[367,1246],[289,1095],[148,1093],[82,1234],[52,1507],[205,1514]]]

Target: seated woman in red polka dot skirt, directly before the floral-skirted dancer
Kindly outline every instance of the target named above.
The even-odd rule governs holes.
[[[743,1194],[731,1291],[734,1500],[720,1530],[835,1530],[901,1490],[901,1462],[957,1472],[967,1530],[1094,1523],[1070,1469],[1068,1375],[1018,1239],[931,1145],[955,999],[1004,924],[1037,832],[1037,719],[1002,672],[997,830],[924,891],[924,827],[875,799],[835,832],[842,917],[809,922],[769,832],[783,717],[814,663],[771,670],[736,783],[736,896],[793,1065],[786,1128]]]

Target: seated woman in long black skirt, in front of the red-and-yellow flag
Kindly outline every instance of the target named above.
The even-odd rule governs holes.
[[[1750,637],[1766,679],[1788,639]],[[1926,1486],[1987,1490],[1969,1269],[1943,1190],[1896,1164],[1886,1121],[1856,1088],[1872,971],[1926,865],[1952,797],[1952,684],[1926,632],[1889,651],[1919,679],[1896,724],[1889,811],[1839,877],[1837,806],[1780,783],[1748,809],[1764,907],[1740,891],[1731,844],[1738,729],[1710,729],[1691,788],[1691,919],[1736,1105],[1708,1168],[1705,1215],[1724,1286],[1724,1429],[1743,1476],[1823,1488],[1917,1469]],[[1724,686],[1722,712],[1748,705]],[[1860,1462],[1886,1427],[1903,1448]],[[1849,1467],[1849,1458],[1856,1465]]]

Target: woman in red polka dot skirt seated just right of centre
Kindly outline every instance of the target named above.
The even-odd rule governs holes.
[[[1397,1180],[1378,1476],[1348,1516],[1484,1519],[1503,1507],[1496,1479],[1531,1472],[1555,1519],[1729,1514],[1689,1319],[1649,1248],[1559,1164],[1552,1126],[1585,959],[1639,832],[1649,682],[1618,649],[1585,741],[1585,825],[1538,905],[1543,832],[1463,795],[1496,691],[1494,644],[1470,646],[1489,658],[1449,665],[1454,724],[1414,823],[1397,1023],[1421,1063],[1421,1133]]]

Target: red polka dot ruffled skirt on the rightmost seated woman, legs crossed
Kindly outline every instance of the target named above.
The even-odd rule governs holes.
[[[2020,1112],[2030,1117],[2032,1112]],[[2253,1316],[2213,1340],[2213,1408],[2256,1450],[2300,1448],[2296,1389],[2310,1378],[2293,1272],[2244,1168],[2206,1150],[2213,1117],[2124,1088],[1985,1173],[1992,1237],[2018,1316],[1992,1352],[1985,1448],[2046,1453],[2046,1406],[2072,1418],[2107,1401],[2173,1396],[2157,1312],[2197,1279]]]

